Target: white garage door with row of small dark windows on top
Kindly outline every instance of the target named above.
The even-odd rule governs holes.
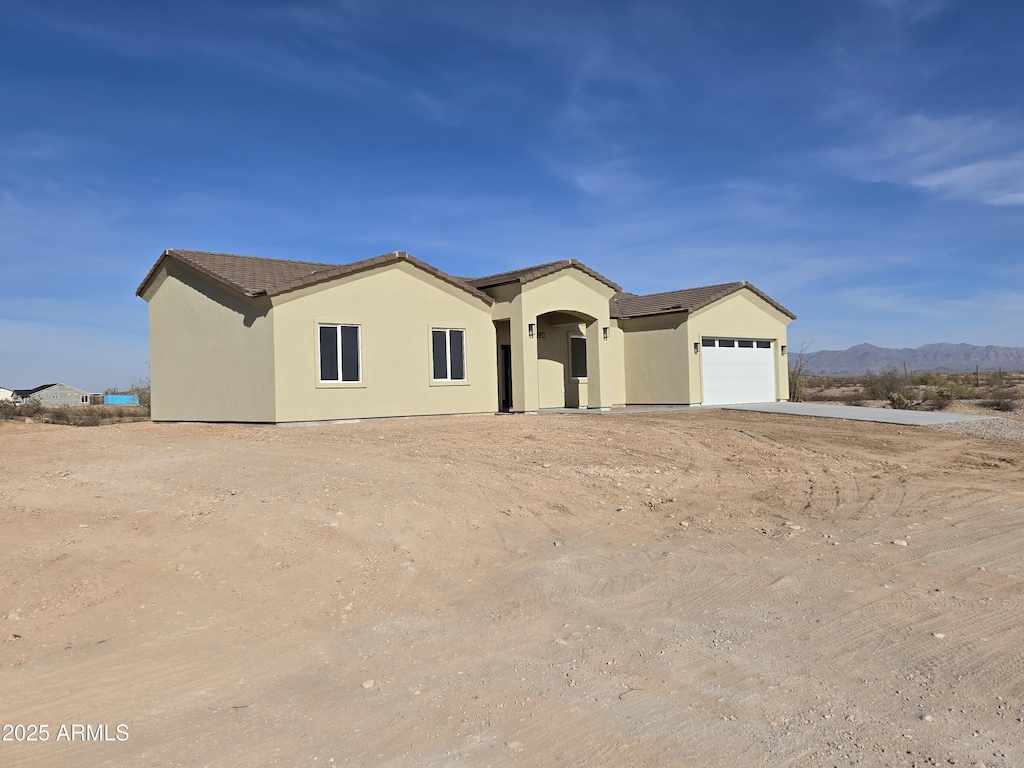
[[[775,350],[770,341],[703,339],[706,406],[775,401]]]

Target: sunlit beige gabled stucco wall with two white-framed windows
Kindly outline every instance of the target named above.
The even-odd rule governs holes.
[[[317,324],[360,328],[361,381],[318,383]],[[432,328],[466,331],[466,381],[431,381]],[[278,421],[493,413],[498,365],[490,307],[397,262],[273,298]]]

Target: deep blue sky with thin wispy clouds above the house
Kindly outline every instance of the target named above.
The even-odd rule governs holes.
[[[165,248],[746,280],[794,349],[1022,345],[1024,4],[0,14],[0,384],[146,376]]]

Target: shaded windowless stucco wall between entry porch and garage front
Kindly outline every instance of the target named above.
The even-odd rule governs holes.
[[[686,314],[621,321],[626,402],[663,406],[690,402]]]

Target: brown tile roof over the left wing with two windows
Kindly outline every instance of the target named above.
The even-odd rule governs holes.
[[[494,299],[482,291],[410,256],[404,251],[395,251],[350,264],[323,264],[315,261],[289,261],[286,259],[267,259],[256,256],[237,256],[227,253],[169,249],[161,254],[160,259],[154,264],[153,269],[145,275],[145,279],[135,292],[137,296],[142,295],[150,281],[153,280],[153,276],[160,268],[161,263],[168,258],[173,258],[187,264],[218,283],[222,283],[250,297],[276,296],[304,286],[324,283],[325,281],[354,274],[367,269],[375,269],[385,264],[406,261],[429,272],[435,278],[439,278],[445,283],[450,283],[456,288],[472,294],[487,304],[494,303]]]

